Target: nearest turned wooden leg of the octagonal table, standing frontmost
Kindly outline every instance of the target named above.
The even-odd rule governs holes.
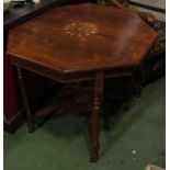
[[[103,72],[97,72],[94,78],[94,98],[93,98],[93,111],[89,118],[90,137],[91,137],[91,162],[98,160],[99,152],[99,126],[101,116],[101,103],[104,89],[104,76]]]

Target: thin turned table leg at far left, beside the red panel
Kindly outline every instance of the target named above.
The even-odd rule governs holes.
[[[34,116],[31,113],[30,103],[29,103],[29,100],[27,100],[25,84],[24,84],[24,80],[23,80],[23,76],[22,76],[22,69],[20,67],[16,67],[16,70],[18,70],[18,78],[19,78],[21,94],[22,94],[23,103],[24,103],[24,106],[25,106],[25,110],[26,110],[29,132],[33,133],[35,131]]]

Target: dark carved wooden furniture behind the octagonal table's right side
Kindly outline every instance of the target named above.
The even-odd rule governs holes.
[[[159,79],[166,73],[166,23],[157,20],[151,13],[129,9],[128,3],[131,4],[132,2],[128,0],[125,0],[125,2],[121,0],[110,1],[112,5],[118,9],[137,13],[147,24],[149,24],[156,32],[158,32],[156,44],[151,47],[140,69],[137,70],[137,72],[140,73],[136,72],[137,83],[135,83],[135,94],[139,97],[139,91],[141,89],[139,81],[140,83],[146,84],[150,81]],[[126,3],[126,7],[123,5],[124,3]]]

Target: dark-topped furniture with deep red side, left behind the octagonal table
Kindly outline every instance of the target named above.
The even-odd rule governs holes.
[[[5,55],[9,30],[19,26],[20,24],[43,12],[46,12],[47,10],[58,5],[59,3],[60,2],[57,0],[42,0],[39,4],[27,3],[27,5],[23,8],[11,9],[3,14],[4,129],[10,133],[16,131],[18,125],[23,122],[21,120],[24,118],[21,118],[23,116],[20,114],[22,112],[22,102],[20,101],[20,95],[18,92],[18,83],[15,83],[14,81],[15,75],[11,66],[11,60],[9,56]],[[48,82],[45,81],[45,83],[47,87]],[[42,88],[39,88],[39,91],[46,88],[44,84],[42,86]]]

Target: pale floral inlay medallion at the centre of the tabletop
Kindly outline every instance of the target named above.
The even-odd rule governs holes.
[[[65,33],[71,36],[89,36],[98,33],[98,26],[90,22],[72,22],[65,26]]]

